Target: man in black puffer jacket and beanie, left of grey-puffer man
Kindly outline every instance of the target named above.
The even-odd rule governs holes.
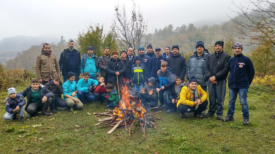
[[[178,51],[178,45],[173,45],[173,55],[167,59],[167,62],[168,67],[172,69],[173,73],[176,74],[176,76],[180,76],[181,80],[184,81],[186,74],[186,60],[180,53],[178,53]]]

